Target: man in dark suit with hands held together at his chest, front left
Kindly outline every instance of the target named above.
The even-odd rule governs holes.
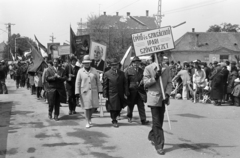
[[[49,119],[52,119],[54,108],[54,119],[58,121],[60,102],[66,102],[66,91],[64,88],[66,76],[63,68],[59,67],[59,59],[54,59],[53,63],[49,63],[51,66],[47,69],[45,76],[48,84],[48,117]]]

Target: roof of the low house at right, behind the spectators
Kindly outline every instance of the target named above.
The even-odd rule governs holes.
[[[240,51],[240,33],[235,32],[187,32],[175,41],[171,51]]]

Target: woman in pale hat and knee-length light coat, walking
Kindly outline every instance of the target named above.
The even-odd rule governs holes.
[[[83,57],[83,68],[77,73],[75,94],[85,110],[86,128],[92,126],[92,113],[99,107],[98,93],[102,92],[102,85],[97,70],[91,67],[89,55]]]

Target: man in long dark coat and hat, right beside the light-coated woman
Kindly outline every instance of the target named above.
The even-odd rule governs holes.
[[[111,114],[113,127],[118,127],[117,117],[124,108],[125,98],[128,92],[127,81],[124,72],[119,69],[119,60],[110,61],[111,69],[103,75],[103,97],[107,98],[107,106]]]

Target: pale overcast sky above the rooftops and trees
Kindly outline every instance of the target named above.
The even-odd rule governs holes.
[[[162,0],[161,26],[186,24],[173,29],[174,40],[195,28],[196,32],[206,32],[210,25],[223,22],[240,24],[240,0]],[[0,42],[7,41],[6,23],[12,26],[12,34],[19,33],[50,43],[69,41],[70,24],[77,32],[77,23],[82,18],[86,22],[91,14],[144,16],[157,13],[158,0],[0,0]]]

